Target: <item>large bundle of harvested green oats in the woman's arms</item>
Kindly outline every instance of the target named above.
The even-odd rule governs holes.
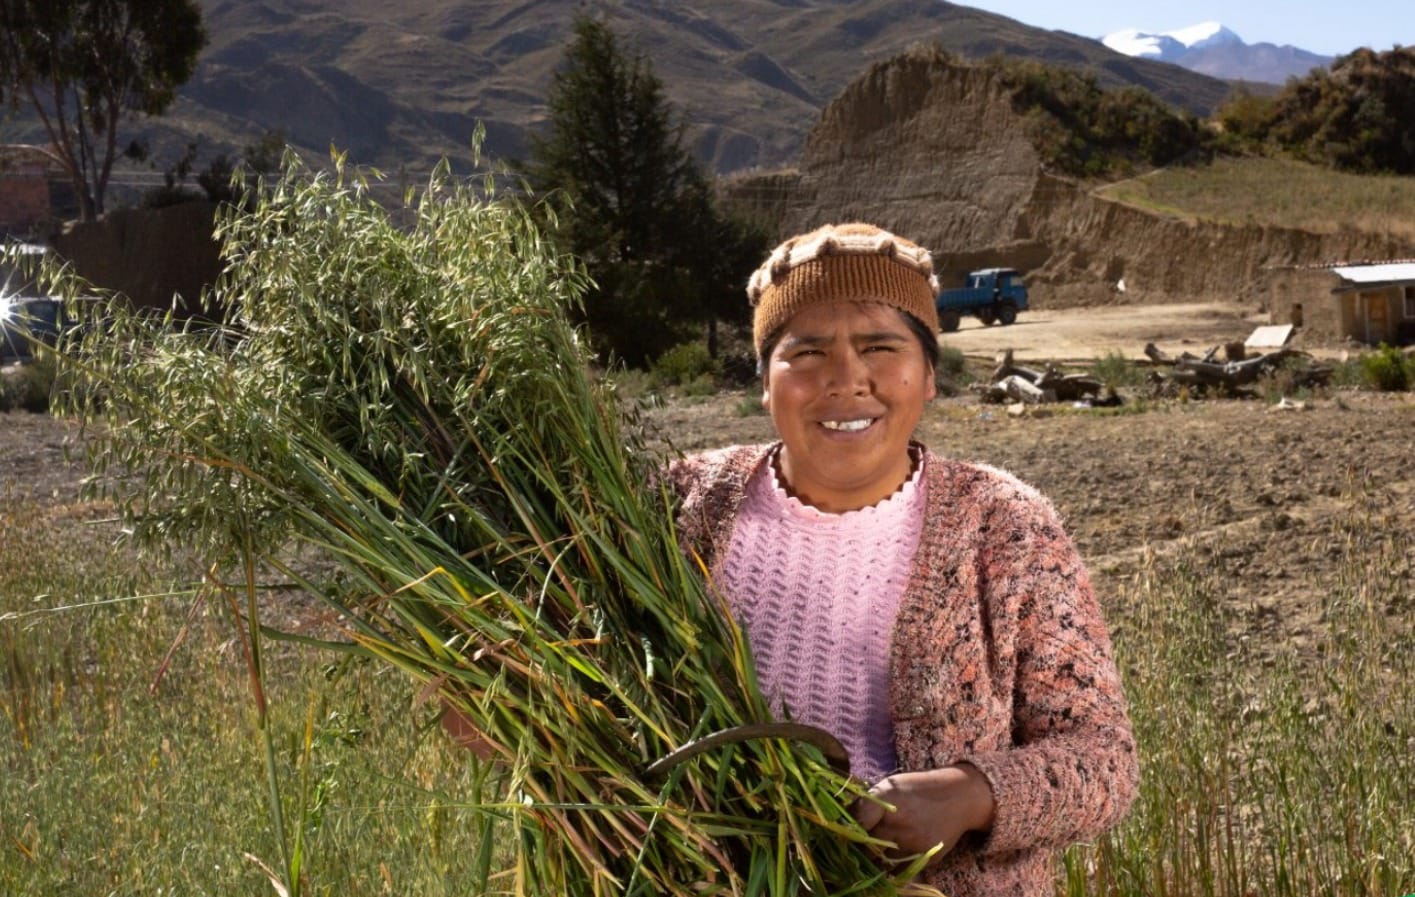
[[[879,864],[852,821],[862,787],[780,730],[649,772],[770,722],[749,647],[567,323],[574,262],[490,183],[439,175],[399,214],[291,168],[221,226],[221,327],[115,308],[69,347],[133,532],[280,567],[345,649],[475,724],[498,771],[468,802],[497,842],[467,893],[913,887],[921,860]]]

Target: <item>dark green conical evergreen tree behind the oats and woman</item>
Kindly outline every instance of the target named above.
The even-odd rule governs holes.
[[[594,280],[584,321],[600,354],[644,365],[695,327],[744,317],[766,238],[717,209],[648,57],[579,17],[549,112],[521,171],[553,194],[559,232]]]

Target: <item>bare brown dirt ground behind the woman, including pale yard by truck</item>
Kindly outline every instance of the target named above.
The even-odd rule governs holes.
[[[1261,323],[1261,321],[1259,321]],[[1024,314],[972,323],[947,341],[971,357],[1013,348],[1027,364],[1139,357],[1155,341],[1177,354],[1242,338],[1242,310],[1162,307]],[[771,439],[756,390],[671,400],[649,426],[678,450]],[[1223,583],[1241,637],[1300,647],[1337,589],[1354,521],[1388,532],[1407,596],[1390,613],[1415,617],[1415,396],[1330,390],[1300,409],[1262,400],[1150,403],[1139,413],[1056,407],[1012,416],[971,395],[938,399],[920,439],[931,448],[1015,473],[1061,511],[1102,600],[1124,606],[1135,576],[1182,550]],[[71,502],[82,470],[65,461],[74,427],[47,416],[0,415],[0,495]],[[14,508],[11,502],[0,504]]]

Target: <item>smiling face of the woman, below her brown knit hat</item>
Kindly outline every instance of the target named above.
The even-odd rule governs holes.
[[[761,405],[781,437],[781,475],[801,501],[839,514],[908,478],[908,440],[934,371],[904,317],[880,303],[816,304],[781,331]]]

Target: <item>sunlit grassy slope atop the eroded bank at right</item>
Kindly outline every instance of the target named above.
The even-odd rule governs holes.
[[[1187,219],[1415,239],[1415,178],[1341,174],[1276,158],[1218,158],[1109,184],[1101,195]],[[1337,224],[1340,222],[1340,224]]]

